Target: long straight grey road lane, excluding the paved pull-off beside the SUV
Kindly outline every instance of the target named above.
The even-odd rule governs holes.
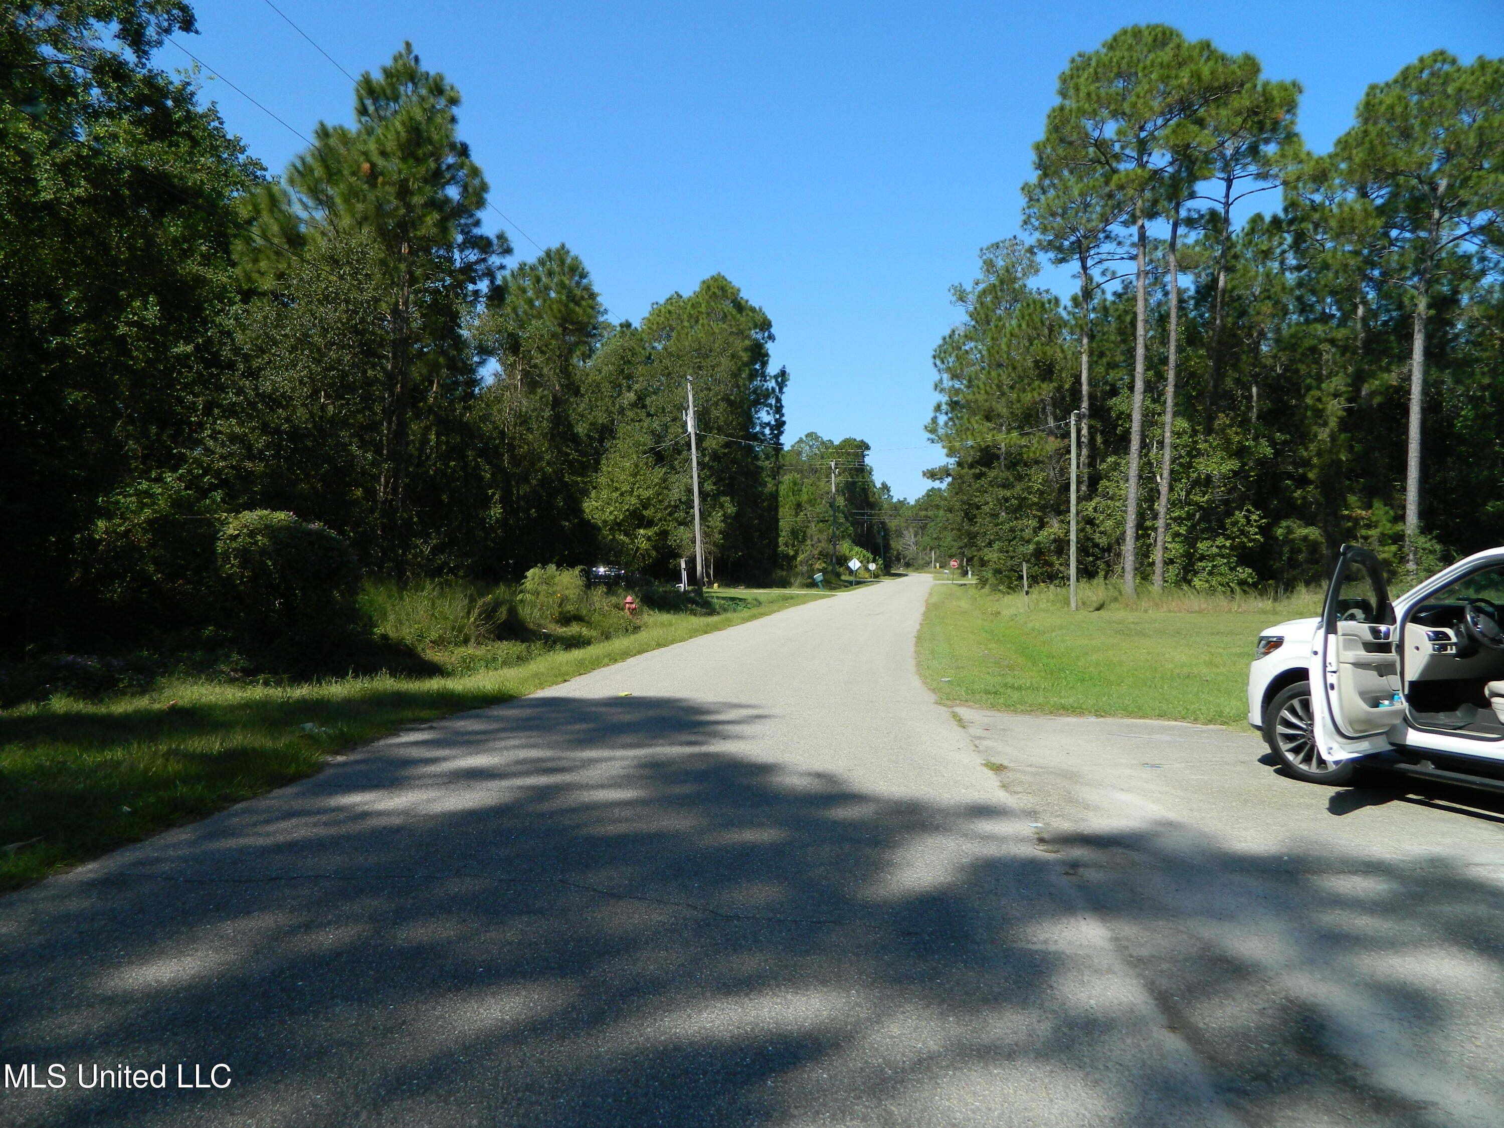
[[[0,1122],[1227,1123],[917,681],[926,593],[426,725],[5,898],[0,1062],[72,1080]]]

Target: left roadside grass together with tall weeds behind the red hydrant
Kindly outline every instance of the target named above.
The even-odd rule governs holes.
[[[0,890],[311,775],[326,755],[403,725],[820,599],[659,593],[629,620],[620,593],[552,587],[507,597],[453,582],[367,588],[365,612],[426,675],[167,675],[144,690],[54,693],[0,711]]]

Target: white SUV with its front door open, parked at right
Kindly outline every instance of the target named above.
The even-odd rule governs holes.
[[[1299,779],[1360,766],[1504,791],[1504,547],[1390,600],[1379,558],[1345,544],[1319,618],[1259,636],[1248,723]]]

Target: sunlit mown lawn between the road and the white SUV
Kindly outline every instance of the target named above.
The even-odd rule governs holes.
[[[1009,713],[1247,725],[1248,662],[1263,627],[1313,615],[1318,596],[1149,591],[1137,603],[1093,585],[1018,594],[935,584],[919,672],[949,704]]]

